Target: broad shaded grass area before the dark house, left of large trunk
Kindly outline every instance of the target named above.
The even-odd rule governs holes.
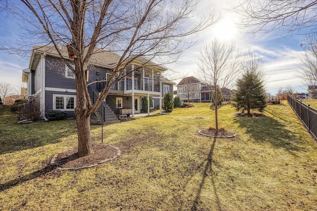
[[[6,125],[0,128],[0,155],[55,144],[60,142],[61,138],[76,133],[75,122],[54,121]]]

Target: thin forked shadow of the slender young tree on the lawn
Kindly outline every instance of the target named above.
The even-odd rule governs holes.
[[[216,190],[215,185],[214,185],[214,173],[212,171],[212,154],[213,154],[214,145],[216,143],[216,139],[217,139],[216,137],[213,138],[213,142],[211,144],[211,149],[210,149],[210,152],[208,154],[208,158],[206,159],[207,160],[207,164],[206,164],[204,172],[203,172],[203,179],[202,179],[201,183],[199,184],[199,189],[197,191],[197,195],[196,195],[195,201],[194,201],[193,206],[191,208],[192,211],[197,211],[197,209],[198,209],[197,206],[198,206],[198,204],[200,202],[200,196],[201,196],[202,190],[204,188],[207,176],[211,177],[212,188],[213,188],[214,196],[216,198],[217,210],[221,211],[219,196],[217,194],[217,190]],[[205,163],[205,161],[203,163]],[[208,172],[210,172],[211,175],[208,174]]]

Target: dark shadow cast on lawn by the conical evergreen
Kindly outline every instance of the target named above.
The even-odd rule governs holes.
[[[236,117],[234,122],[246,128],[247,133],[257,142],[269,142],[275,147],[282,147],[288,151],[301,150],[294,145],[296,138],[285,125],[271,117]]]

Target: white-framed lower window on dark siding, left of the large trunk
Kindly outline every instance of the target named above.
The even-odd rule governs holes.
[[[76,95],[53,94],[53,110],[74,111]]]

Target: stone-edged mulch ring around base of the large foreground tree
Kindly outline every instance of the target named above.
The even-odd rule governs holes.
[[[59,170],[86,169],[111,161],[121,155],[119,148],[108,144],[95,143],[92,144],[92,148],[94,153],[84,157],[77,155],[77,148],[56,154],[51,160],[51,165],[56,165]]]

